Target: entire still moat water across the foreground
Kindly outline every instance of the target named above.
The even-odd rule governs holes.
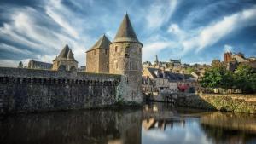
[[[256,143],[256,115],[145,104],[136,110],[20,114],[0,119],[1,144]]]

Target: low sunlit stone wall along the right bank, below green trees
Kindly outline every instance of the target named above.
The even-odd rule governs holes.
[[[256,113],[256,95],[179,94],[177,106],[228,112]]]

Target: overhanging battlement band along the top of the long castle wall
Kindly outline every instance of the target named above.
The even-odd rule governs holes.
[[[0,67],[0,83],[119,85],[120,75]]]

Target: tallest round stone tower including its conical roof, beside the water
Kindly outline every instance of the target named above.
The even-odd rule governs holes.
[[[109,73],[125,76],[125,90],[122,95],[125,101],[143,101],[142,81],[142,48],[137,39],[128,14],[119,26],[119,30],[109,45]]]

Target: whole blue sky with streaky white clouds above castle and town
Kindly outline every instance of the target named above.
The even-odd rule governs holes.
[[[143,61],[256,56],[255,0],[1,0],[0,66],[52,62],[66,43],[79,66],[104,33],[113,40],[125,13],[143,43]]]

